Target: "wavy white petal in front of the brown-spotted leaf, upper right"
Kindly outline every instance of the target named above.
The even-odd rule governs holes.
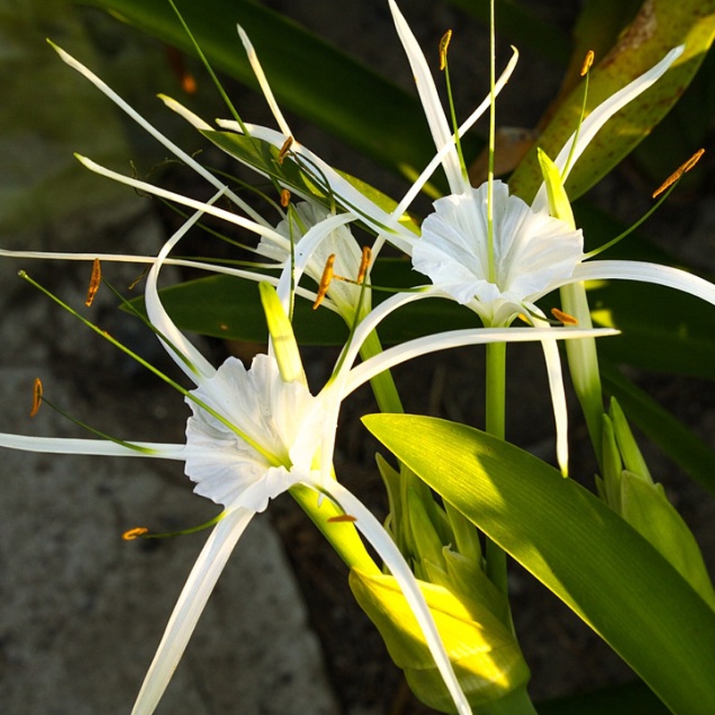
[[[576,132],[574,132],[554,160],[554,163],[559,167],[559,171],[562,172],[561,178],[563,180],[566,179],[568,172],[570,172],[573,165],[576,164],[578,157],[584,153],[585,147],[589,145],[593,137],[601,130],[601,127],[608,122],[614,114],[629,102],[632,102],[635,97],[638,97],[638,95],[642,94],[647,88],[651,87],[652,84],[660,80],[666,71],[669,70],[670,65],[683,54],[684,50],[685,45],[674,47],[659,63],[627,84],[626,87],[619,89],[616,94],[611,95],[605,102],[601,102],[601,104],[585,118],[578,132],[578,137],[576,138]],[[568,156],[571,154],[571,147],[574,146],[575,141],[576,147],[574,147],[571,162],[567,166]],[[536,211],[548,210],[549,199],[546,196],[546,186],[544,184],[542,184],[541,189],[539,189],[536,194],[532,206]]]

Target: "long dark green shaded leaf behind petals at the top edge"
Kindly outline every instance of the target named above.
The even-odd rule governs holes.
[[[189,38],[165,0],[88,2],[193,54]],[[432,159],[432,137],[416,96],[298,23],[251,0],[177,0],[176,4],[215,69],[257,88],[236,32],[238,22],[256,46],[282,109],[299,114],[408,177],[414,178]],[[394,41],[399,42],[396,35]],[[243,118],[251,119],[248,114]],[[469,142],[467,138],[467,146]]]

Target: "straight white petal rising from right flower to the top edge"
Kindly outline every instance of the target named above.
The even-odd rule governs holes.
[[[440,96],[437,93],[437,88],[434,86],[432,72],[427,65],[422,49],[412,34],[412,30],[409,28],[408,22],[402,13],[400,13],[400,9],[394,0],[390,0],[390,11],[392,13],[392,19],[395,22],[397,34],[400,37],[400,42],[405,48],[405,53],[408,55],[409,66],[412,68],[412,73],[415,77],[415,85],[422,102],[422,108],[425,110],[425,117],[432,131],[434,146],[437,148],[437,151],[445,146],[450,147],[450,150],[448,150],[442,158],[442,166],[444,167],[444,172],[447,174],[450,191],[453,194],[460,194],[467,189],[468,183],[459,165],[459,157],[457,156],[457,149],[454,147],[450,122],[447,121],[447,117],[444,114]]]

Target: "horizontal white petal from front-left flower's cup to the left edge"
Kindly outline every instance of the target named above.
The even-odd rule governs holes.
[[[130,442],[139,450],[132,450],[110,440],[83,440],[66,437],[32,437],[27,434],[0,433],[0,447],[46,454],[102,455],[104,457],[149,457],[159,459],[186,458],[183,444],[161,442]],[[141,451],[140,451],[141,450]]]

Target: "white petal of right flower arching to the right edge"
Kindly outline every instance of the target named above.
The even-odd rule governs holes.
[[[624,280],[655,283],[656,285],[682,290],[715,306],[715,285],[704,278],[687,273],[669,265],[645,263],[644,261],[588,261],[576,266],[568,282]]]

